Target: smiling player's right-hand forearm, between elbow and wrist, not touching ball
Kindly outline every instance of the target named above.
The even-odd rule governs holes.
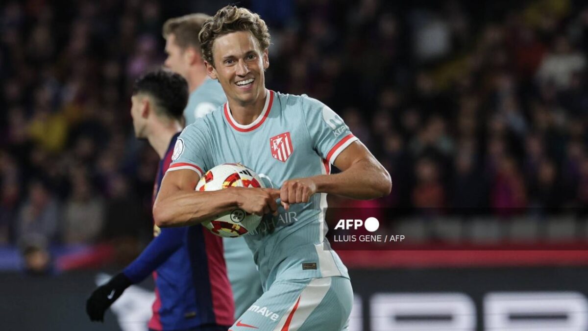
[[[369,200],[387,196],[392,190],[390,174],[381,164],[360,160],[347,170],[333,175],[312,177],[317,193]]]

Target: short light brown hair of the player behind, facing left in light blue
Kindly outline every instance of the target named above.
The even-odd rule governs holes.
[[[202,25],[208,19],[211,19],[211,16],[202,13],[170,18],[163,24],[163,38],[167,39],[169,35],[173,35],[175,43],[180,48],[193,47],[200,49],[198,34],[202,29]]]

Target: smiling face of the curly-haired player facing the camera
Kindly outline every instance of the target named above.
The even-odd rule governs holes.
[[[238,31],[215,39],[215,67],[206,64],[210,77],[218,79],[229,100],[251,104],[265,95],[263,71],[269,67],[268,51],[262,51],[250,32]]]

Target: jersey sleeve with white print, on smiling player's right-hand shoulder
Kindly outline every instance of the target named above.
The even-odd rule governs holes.
[[[302,111],[313,148],[330,164],[335,163],[339,154],[358,140],[343,119],[322,102],[302,97]]]

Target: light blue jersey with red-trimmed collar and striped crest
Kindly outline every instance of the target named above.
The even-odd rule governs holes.
[[[242,163],[279,188],[289,179],[330,173],[330,164],[356,140],[322,102],[268,91],[263,111],[249,125],[236,123],[225,104],[186,127],[178,138],[183,151],[168,171],[189,168],[202,176],[219,164]],[[280,206],[277,217],[265,217],[245,236],[264,290],[280,281],[349,278],[325,237],[326,207],[324,193],[289,211]]]

